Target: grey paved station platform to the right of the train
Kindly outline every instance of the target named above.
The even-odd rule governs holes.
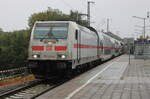
[[[37,99],[150,99],[150,60],[122,55]]]

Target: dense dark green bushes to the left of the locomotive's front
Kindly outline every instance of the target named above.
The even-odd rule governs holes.
[[[19,30],[0,34],[0,66],[23,66],[28,55],[29,33],[30,30]]]

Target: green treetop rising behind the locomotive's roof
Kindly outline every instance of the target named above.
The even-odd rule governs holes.
[[[64,14],[58,9],[48,8],[47,11],[34,13],[29,17],[28,25],[33,27],[36,21],[75,21],[80,25],[87,26],[87,21],[82,20],[78,11],[70,11],[70,14]]]

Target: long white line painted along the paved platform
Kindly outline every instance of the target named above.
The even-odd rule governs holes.
[[[118,61],[119,59],[120,58],[118,58],[116,61]],[[65,99],[71,99],[77,92],[79,92],[81,89],[86,87],[89,83],[91,83],[93,79],[95,79],[98,75],[100,75],[102,72],[104,72],[106,69],[108,69],[112,64],[116,63],[116,61],[108,64],[107,67],[105,67],[103,70],[101,70],[95,76],[93,76],[91,79],[89,79],[84,85],[82,85],[81,87],[79,87],[78,89],[73,91],[71,94],[69,94]]]

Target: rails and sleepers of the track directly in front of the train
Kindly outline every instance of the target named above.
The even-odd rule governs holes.
[[[56,81],[55,83],[45,83],[46,81],[36,81],[35,83],[28,84],[14,90],[9,90],[0,95],[0,99],[34,99],[66,82]]]

